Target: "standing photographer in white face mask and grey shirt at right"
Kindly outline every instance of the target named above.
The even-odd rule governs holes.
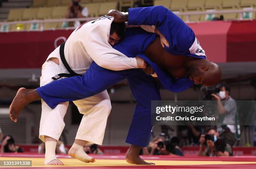
[[[235,117],[237,113],[236,101],[230,96],[230,86],[227,84],[218,85],[220,92],[212,94],[218,102],[218,112],[223,118],[221,121],[222,126],[218,127],[220,136],[225,139],[225,142],[233,146],[236,142],[236,125]],[[233,124],[233,125],[230,125]],[[240,133],[240,132],[239,132]]]

